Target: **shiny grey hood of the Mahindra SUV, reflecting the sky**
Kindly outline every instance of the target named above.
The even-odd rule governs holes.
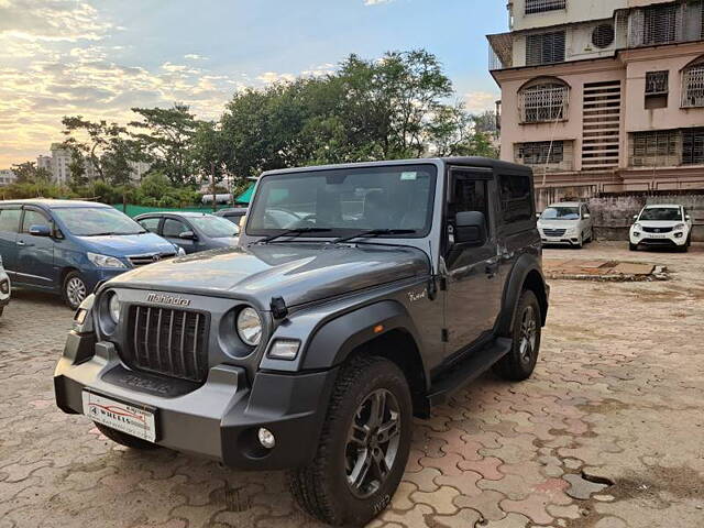
[[[151,264],[111,280],[114,285],[205,295],[227,293],[268,306],[312,302],[430,273],[415,248],[388,245],[268,244],[223,248]]]

